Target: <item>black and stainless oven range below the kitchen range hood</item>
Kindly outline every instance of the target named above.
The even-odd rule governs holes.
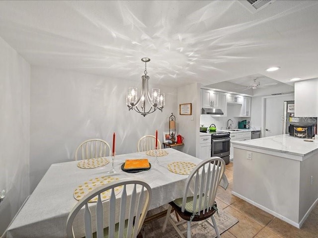
[[[211,157],[218,156],[225,161],[225,164],[230,163],[230,132],[212,132],[211,133]]]

